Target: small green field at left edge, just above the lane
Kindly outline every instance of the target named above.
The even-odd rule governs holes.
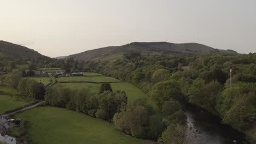
[[[16,109],[31,102],[17,97],[17,94],[18,92],[14,88],[0,86],[0,113]]]

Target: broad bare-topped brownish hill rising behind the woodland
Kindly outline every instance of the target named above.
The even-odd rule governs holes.
[[[104,61],[121,58],[123,53],[127,51],[140,51],[146,53],[190,53],[190,54],[202,54],[202,53],[229,53],[236,54],[233,50],[218,50],[212,47],[197,44],[197,43],[184,43],[173,44],[167,42],[153,42],[153,43],[130,43],[122,46],[109,46],[102,47],[100,49],[85,51],[70,55],[67,58],[74,58],[76,60],[85,61]]]

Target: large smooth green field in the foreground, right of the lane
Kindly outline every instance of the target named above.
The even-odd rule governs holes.
[[[41,106],[15,115],[28,121],[27,132],[33,143],[143,143],[120,133],[113,125],[76,111]]]

